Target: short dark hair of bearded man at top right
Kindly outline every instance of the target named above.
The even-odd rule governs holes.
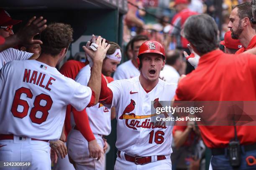
[[[244,2],[239,5],[232,5],[232,10],[236,7],[238,8],[237,12],[240,20],[246,17],[248,17],[249,20],[253,18],[251,2]]]

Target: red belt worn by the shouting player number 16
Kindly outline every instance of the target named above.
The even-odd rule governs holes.
[[[120,156],[120,150],[118,150],[118,157],[121,158]],[[166,157],[164,155],[157,155],[157,160],[165,160]],[[136,165],[142,165],[146,163],[151,163],[151,156],[146,156],[146,157],[141,157],[141,156],[130,156],[125,154],[125,160],[130,161],[132,163],[135,163]]]

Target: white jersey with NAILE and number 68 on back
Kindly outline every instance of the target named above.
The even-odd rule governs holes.
[[[0,134],[59,139],[66,106],[83,110],[92,90],[36,60],[8,62],[0,70]]]

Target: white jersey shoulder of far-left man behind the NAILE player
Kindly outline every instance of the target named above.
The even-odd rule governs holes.
[[[0,52],[0,69],[7,63],[13,60],[28,60],[33,53],[26,51],[16,50],[14,48],[8,48]]]

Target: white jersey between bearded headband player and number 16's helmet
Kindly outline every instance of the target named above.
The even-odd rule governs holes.
[[[117,67],[113,78],[114,80],[123,80],[133,78],[139,75],[140,72],[138,71],[138,68],[133,65],[131,60],[128,60]]]

